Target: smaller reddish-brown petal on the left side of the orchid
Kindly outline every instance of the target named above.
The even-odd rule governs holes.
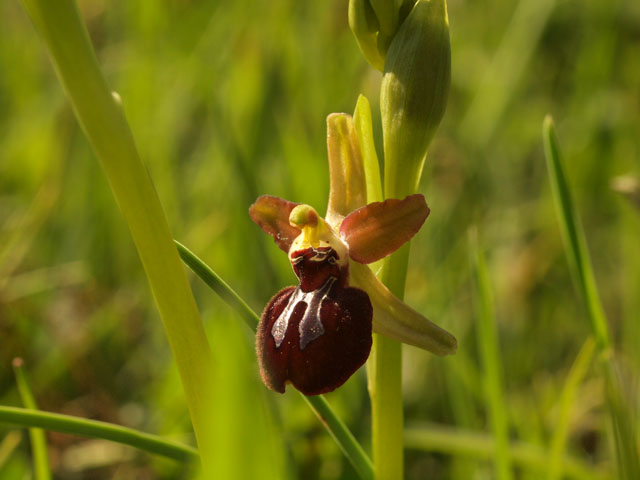
[[[289,224],[289,214],[298,205],[273,195],[262,195],[249,207],[249,215],[288,253],[291,242],[300,235],[300,230]]]

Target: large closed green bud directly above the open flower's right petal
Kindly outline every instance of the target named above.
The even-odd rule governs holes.
[[[450,80],[445,0],[418,0],[391,42],[380,89],[385,196],[402,197],[417,190]]]

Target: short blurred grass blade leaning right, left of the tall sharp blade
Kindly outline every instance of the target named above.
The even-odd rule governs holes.
[[[587,370],[591,364],[591,360],[593,359],[595,348],[596,343],[593,338],[587,338],[571,366],[571,371],[569,372],[564,388],[562,389],[558,420],[555,423],[553,437],[551,438],[547,480],[556,480],[563,476],[565,470],[565,450],[569,434],[569,421],[571,420],[571,408],[575,401],[578,387],[587,374]]]

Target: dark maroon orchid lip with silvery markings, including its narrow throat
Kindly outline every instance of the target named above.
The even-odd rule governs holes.
[[[291,255],[300,279],[265,308],[257,332],[264,383],[283,393],[291,382],[305,395],[330,392],[367,360],[373,309],[369,296],[348,287],[347,268],[331,247]]]

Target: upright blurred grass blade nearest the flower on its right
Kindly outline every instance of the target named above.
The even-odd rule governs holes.
[[[510,480],[511,455],[509,452],[509,424],[507,406],[502,388],[502,369],[500,367],[500,351],[496,332],[496,317],[493,297],[489,282],[489,274],[475,231],[469,235],[470,249],[473,255],[473,280],[475,286],[476,312],[478,316],[477,335],[480,360],[483,367],[485,393],[493,435],[496,439],[496,455],[494,457],[497,478]]]

